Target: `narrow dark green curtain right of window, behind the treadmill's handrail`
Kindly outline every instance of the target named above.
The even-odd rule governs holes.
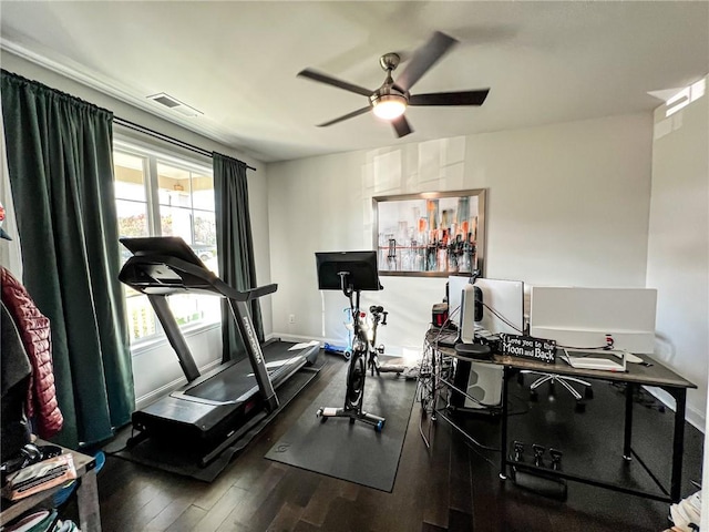
[[[238,290],[256,288],[246,163],[219,153],[213,153],[212,158],[219,276]],[[250,311],[256,335],[263,342],[264,323],[258,300],[251,301]],[[226,300],[222,301],[222,339],[224,361],[238,360],[246,356],[242,337]]]

